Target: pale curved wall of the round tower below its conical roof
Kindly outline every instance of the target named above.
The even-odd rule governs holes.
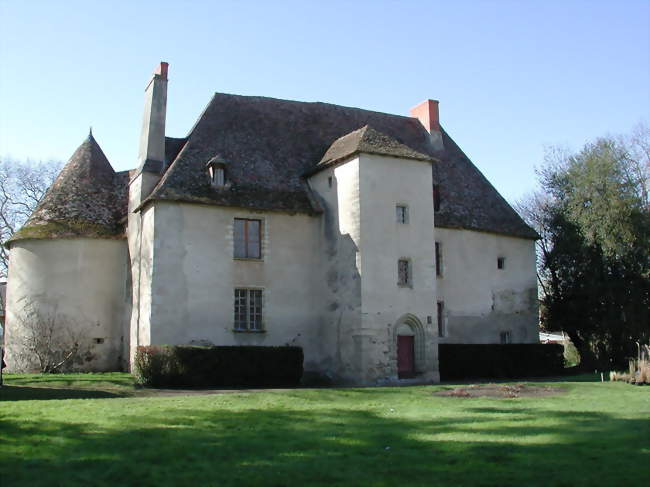
[[[127,246],[124,240],[21,240],[11,244],[7,284],[5,343],[9,370],[26,370],[19,349],[26,306],[44,317],[55,316],[75,335],[90,360],[76,364],[86,371],[120,370],[124,333]],[[95,339],[103,343],[94,343]]]

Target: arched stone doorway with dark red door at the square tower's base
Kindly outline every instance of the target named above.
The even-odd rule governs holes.
[[[424,329],[417,317],[407,314],[395,324],[397,377],[415,377],[424,370]]]

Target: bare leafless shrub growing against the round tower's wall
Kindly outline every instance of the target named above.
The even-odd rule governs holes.
[[[27,305],[17,315],[18,333],[12,354],[22,371],[67,372],[93,358],[92,345],[80,328],[55,309],[44,314]]]

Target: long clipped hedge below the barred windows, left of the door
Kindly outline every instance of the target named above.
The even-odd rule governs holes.
[[[287,387],[300,383],[300,347],[138,347],[134,375],[151,387]]]

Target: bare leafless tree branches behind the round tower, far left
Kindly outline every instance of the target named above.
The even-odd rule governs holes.
[[[0,277],[7,276],[4,243],[27,221],[61,171],[59,161],[0,160]]]

